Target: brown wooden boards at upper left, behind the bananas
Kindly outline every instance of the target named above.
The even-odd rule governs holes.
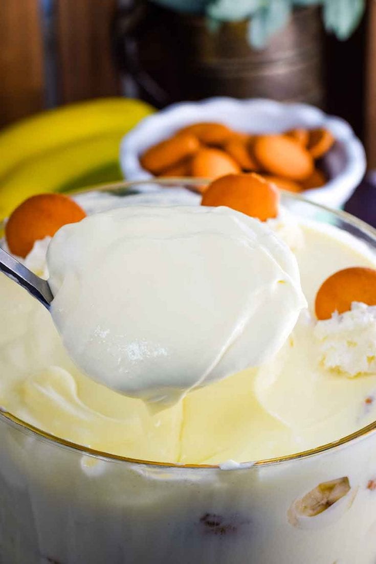
[[[56,3],[57,101],[120,94],[111,57],[116,0]],[[0,126],[45,107],[39,0],[0,0]]]

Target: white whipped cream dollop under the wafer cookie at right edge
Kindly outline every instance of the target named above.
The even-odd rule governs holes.
[[[376,372],[376,306],[353,302],[350,311],[317,321],[320,362],[347,376]]]

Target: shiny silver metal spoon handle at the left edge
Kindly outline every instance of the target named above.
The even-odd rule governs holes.
[[[43,280],[34,272],[29,270],[19,261],[16,261],[10,254],[0,247],[0,272],[14,280],[17,284],[25,288],[37,298],[43,306],[50,309],[50,303],[53,301],[54,296],[51,293],[47,280]]]

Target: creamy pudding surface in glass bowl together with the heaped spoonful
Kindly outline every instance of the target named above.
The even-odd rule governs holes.
[[[25,258],[39,271],[46,242]],[[262,223],[228,208],[126,206],[60,229],[47,263],[63,340],[0,277],[0,405],[37,428],[121,456],[221,464],[291,455],[376,419],[374,308],[314,311],[334,272],[376,268],[333,226],[283,207]]]

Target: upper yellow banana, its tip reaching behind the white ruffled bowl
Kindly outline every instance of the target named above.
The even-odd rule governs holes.
[[[20,162],[85,138],[123,131],[153,111],[129,98],[98,98],[77,102],[19,121],[0,131],[0,183]]]

